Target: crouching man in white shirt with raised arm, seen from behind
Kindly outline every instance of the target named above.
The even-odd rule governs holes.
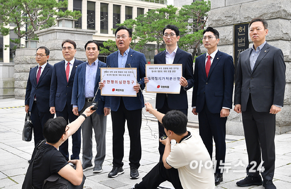
[[[157,188],[168,180],[175,188],[214,189],[212,161],[203,141],[195,131],[187,131],[187,116],[172,110],[166,115],[145,103],[145,110],[163,123],[167,138],[160,141],[165,145],[163,161],[160,161],[142,181],[131,188]],[[171,140],[177,144],[171,149]]]

